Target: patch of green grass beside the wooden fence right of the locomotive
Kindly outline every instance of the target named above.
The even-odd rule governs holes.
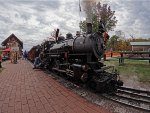
[[[107,66],[115,66],[120,75],[137,76],[142,82],[150,82],[150,64],[148,60],[128,60],[119,66],[119,59],[113,58],[104,62]]]

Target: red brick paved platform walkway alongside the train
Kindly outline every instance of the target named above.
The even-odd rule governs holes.
[[[0,113],[108,113],[47,76],[28,61],[4,62]]]

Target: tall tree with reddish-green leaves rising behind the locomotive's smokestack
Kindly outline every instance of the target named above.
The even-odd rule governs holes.
[[[100,2],[90,5],[92,10],[88,10],[88,13],[92,16],[93,32],[98,31],[98,23],[100,20],[104,23],[106,31],[113,30],[117,24],[115,11],[112,11],[108,4],[101,4]],[[91,11],[91,12],[89,12]],[[89,16],[87,14],[87,16]],[[90,18],[90,17],[87,17]],[[83,32],[86,31],[86,21],[81,21],[79,27]]]

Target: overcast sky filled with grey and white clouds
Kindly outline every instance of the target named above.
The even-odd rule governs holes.
[[[105,2],[116,11],[118,20],[111,35],[122,30],[126,37],[150,38],[150,0]],[[85,16],[83,10],[81,15]],[[75,34],[79,21],[79,0],[0,0],[0,43],[14,33],[23,41],[24,50],[29,50],[58,27],[63,35]]]

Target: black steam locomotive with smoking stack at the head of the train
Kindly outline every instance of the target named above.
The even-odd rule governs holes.
[[[57,35],[58,32],[59,29]],[[78,34],[73,38],[72,34],[68,33],[66,38],[59,36],[55,42],[43,44],[47,68],[84,83],[96,91],[104,93],[116,91],[123,82],[118,79],[116,71],[108,71],[112,67],[100,62],[105,51],[104,32],[102,23],[95,33],[92,33],[92,24],[87,23],[86,34]]]

